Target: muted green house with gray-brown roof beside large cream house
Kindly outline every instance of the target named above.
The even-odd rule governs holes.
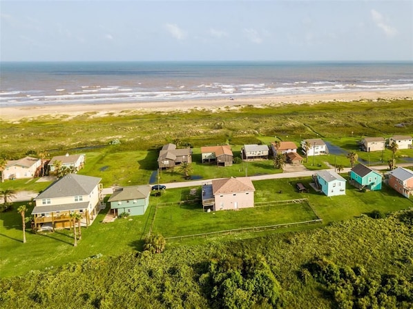
[[[131,216],[144,215],[149,205],[150,186],[128,186],[117,188],[108,199],[115,216],[126,213]]]

